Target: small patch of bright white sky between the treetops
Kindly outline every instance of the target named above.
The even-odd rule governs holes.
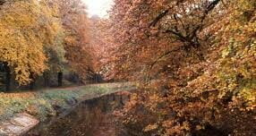
[[[107,17],[107,11],[110,10],[113,0],[82,0],[87,5],[89,16],[98,15],[100,18]]]

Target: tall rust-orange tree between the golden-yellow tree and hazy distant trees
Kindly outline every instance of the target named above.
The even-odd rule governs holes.
[[[64,48],[71,70],[86,79],[93,72],[92,56],[89,46],[89,20],[86,6],[81,0],[56,0],[59,4],[61,19],[66,30]]]

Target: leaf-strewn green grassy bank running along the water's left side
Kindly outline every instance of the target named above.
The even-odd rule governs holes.
[[[74,99],[81,101],[128,89],[132,89],[129,83],[110,83],[66,89],[0,93],[0,121],[22,112],[35,115],[40,121],[45,121],[47,117],[56,115],[54,106],[69,108],[71,105],[68,102]]]

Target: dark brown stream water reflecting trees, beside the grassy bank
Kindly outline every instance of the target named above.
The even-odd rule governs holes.
[[[112,113],[122,108],[128,98],[115,93],[83,101],[68,115],[40,124],[26,136],[125,136]]]

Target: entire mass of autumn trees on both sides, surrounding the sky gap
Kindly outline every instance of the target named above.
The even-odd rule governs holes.
[[[74,72],[133,81],[130,135],[256,135],[255,0],[1,0],[0,61],[20,85]]]

